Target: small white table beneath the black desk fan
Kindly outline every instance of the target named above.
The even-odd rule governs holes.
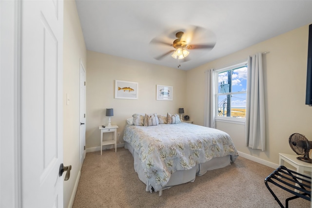
[[[304,171],[312,172],[312,164],[298,160],[299,155],[279,153],[279,165],[283,166],[285,162],[296,168],[296,172],[304,174]],[[306,175],[306,174],[304,174]],[[309,175],[311,177],[311,174]],[[301,181],[300,181],[301,182]],[[297,186],[297,184],[296,184]],[[297,189],[295,189],[298,192]]]

